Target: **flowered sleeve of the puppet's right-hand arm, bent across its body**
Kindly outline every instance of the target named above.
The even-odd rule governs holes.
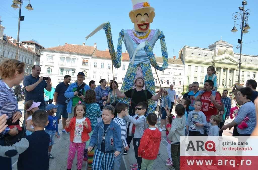
[[[165,35],[163,34],[162,31],[158,30],[158,37],[160,39],[160,45],[161,45],[161,52],[162,52],[162,59],[163,59],[163,64],[160,67],[155,59],[155,56],[152,52],[152,47],[149,44],[148,41],[145,41],[145,47],[144,47],[144,51],[146,52],[149,60],[150,60],[150,64],[157,70],[165,70],[168,67],[168,55],[167,55],[167,46],[166,46],[166,42],[165,42]]]

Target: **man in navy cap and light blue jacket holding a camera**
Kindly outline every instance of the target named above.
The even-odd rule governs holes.
[[[84,73],[79,72],[77,74],[77,82],[72,83],[65,91],[65,97],[68,98],[66,101],[68,118],[72,118],[74,116],[75,105],[79,100],[83,101],[85,92],[90,89],[90,87],[83,82],[84,80]]]

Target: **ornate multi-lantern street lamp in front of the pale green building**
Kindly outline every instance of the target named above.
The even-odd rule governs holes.
[[[240,69],[241,69],[241,55],[242,55],[242,42],[243,42],[243,33],[248,33],[250,27],[248,25],[248,16],[250,15],[250,10],[245,10],[245,5],[247,5],[247,1],[243,1],[242,2],[242,5],[243,6],[239,6],[239,10],[240,12],[235,12],[233,13],[232,15],[232,19],[234,20],[234,27],[233,29],[231,30],[231,32],[235,33],[237,32],[237,28],[236,28],[236,25],[239,25],[240,26],[240,29],[241,29],[241,40],[238,39],[237,43],[240,44],[240,55],[239,55],[239,68],[238,68],[238,84],[240,84]],[[239,20],[240,21],[240,24],[236,24],[236,20]],[[244,23],[245,23],[245,26],[244,26]]]

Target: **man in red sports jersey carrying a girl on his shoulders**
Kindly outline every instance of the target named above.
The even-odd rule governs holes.
[[[219,92],[216,92],[215,96],[212,96],[212,89],[213,89],[213,81],[206,80],[205,84],[203,86],[203,89],[205,92],[202,95],[199,95],[195,98],[195,100],[201,100],[201,111],[206,116],[207,125],[204,126],[204,132],[206,134],[209,133],[209,128],[211,127],[211,124],[209,122],[209,119],[212,115],[217,115],[217,109],[221,109],[221,95]],[[211,102],[213,103],[214,107],[210,108]]]

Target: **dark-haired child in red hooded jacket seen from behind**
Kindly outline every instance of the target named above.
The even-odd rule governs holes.
[[[151,113],[147,116],[147,123],[149,128],[144,130],[143,136],[140,140],[138,148],[138,156],[142,157],[141,169],[153,169],[154,160],[157,158],[159,152],[159,145],[161,141],[161,132],[155,127],[157,123],[157,115]]]

